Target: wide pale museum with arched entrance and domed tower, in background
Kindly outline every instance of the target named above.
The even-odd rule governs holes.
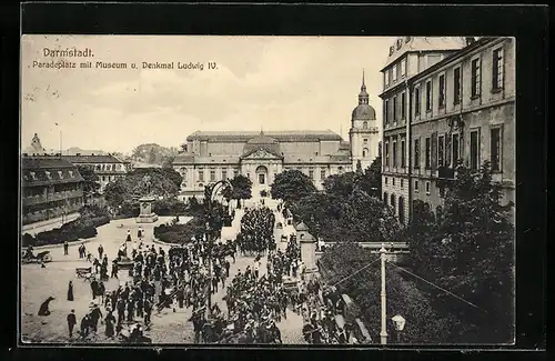
[[[284,170],[304,172],[317,189],[330,174],[367,168],[379,152],[375,110],[369,104],[364,77],[359,106],[352,112],[350,142],[330,131],[196,131],[173,161],[183,177],[182,198],[203,195],[204,185],[243,174],[253,194],[268,190]]]

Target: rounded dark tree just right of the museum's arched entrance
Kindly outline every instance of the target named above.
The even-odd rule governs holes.
[[[316,188],[312,180],[299,170],[286,170],[279,173],[271,184],[272,199],[283,199],[287,203],[314,192],[316,192]]]

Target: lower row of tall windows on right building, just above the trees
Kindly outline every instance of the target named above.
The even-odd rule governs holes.
[[[468,166],[471,169],[477,169],[481,160],[481,128],[475,128],[470,131],[470,159]],[[392,159],[390,159],[390,140],[392,147]],[[433,134],[424,139],[424,168],[432,167],[453,167],[463,158],[464,143],[460,133],[453,134]],[[502,147],[503,147],[503,129],[495,127],[490,129],[490,161],[493,171],[502,171]],[[414,168],[421,168],[421,139],[414,139]],[[405,158],[405,138],[401,138],[401,168],[406,167]],[[435,156],[435,161],[432,156]],[[385,140],[385,167],[397,167],[397,137],[390,137]]]

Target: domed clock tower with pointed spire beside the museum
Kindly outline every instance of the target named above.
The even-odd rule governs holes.
[[[362,170],[365,170],[377,157],[380,136],[376,127],[376,111],[369,104],[369,98],[363,70],[359,106],[353,110],[349,130],[353,170],[356,169],[359,162]]]

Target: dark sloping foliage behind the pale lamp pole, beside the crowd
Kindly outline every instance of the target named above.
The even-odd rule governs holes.
[[[320,260],[324,279],[349,294],[362,311],[373,340],[380,340],[381,330],[381,267],[380,255],[372,254],[356,243],[341,243],[326,251]],[[361,269],[363,271],[360,271]],[[359,272],[359,273],[356,273]],[[450,342],[452,319],[440,315],[430,299],[417,287],[386,263],[386,314],[389,343],[396,342],[391,321],[395,314],[405,318],[402,343]]]

